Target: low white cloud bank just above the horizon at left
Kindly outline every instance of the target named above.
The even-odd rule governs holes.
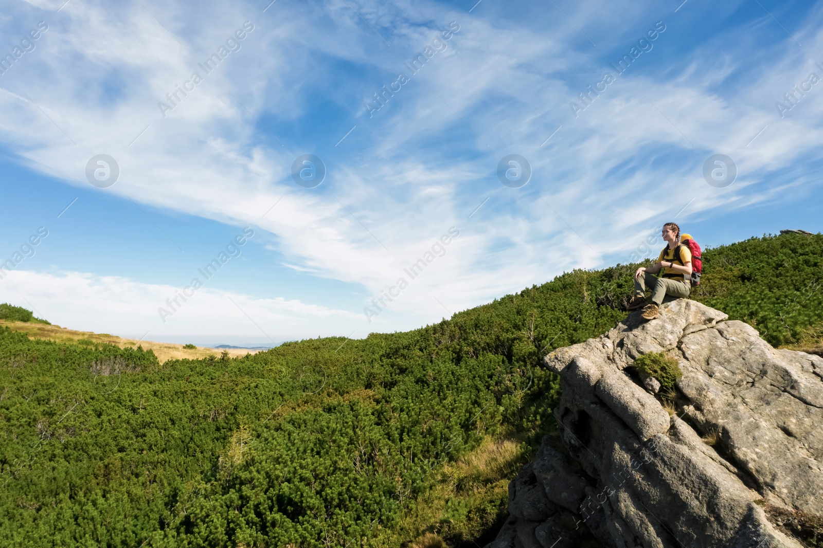
[[[123,337],[141,338],[148,332],[147,340],[174,340],[197,333],[215,340],[226,337],[271,344],[307,333],[336,335],[339,323],[362,320],[360,314],[345,310],[300,300],[257,299],[207,285],[187,290],[191,295],[183,300],[174,286],[88,272],[14,270],[0,281],[0,289],[7,297],[20,295],[24,300],[18,302],[24,307],[30,304],[51,323],[91,332],[111,332],[115,326]],[[161,314],[160,309],[170,315]]]

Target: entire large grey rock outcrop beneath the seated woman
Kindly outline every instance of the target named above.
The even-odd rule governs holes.
[[[631,367],[660,351],[683,373],[668,409]],[[681,299],[545,365],[560,375],[560,437],[509,485],[491,548],[796,547],[764,508],[823,515],[820,357]]]

